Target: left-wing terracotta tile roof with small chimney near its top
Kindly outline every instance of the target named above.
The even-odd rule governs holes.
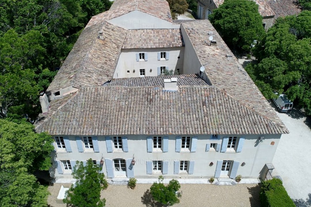
[[[103,31],[104,40],[97,37],[100,30]],[[102,85],[111,80],[126,34],[126,29],[106,21],[86,27],[47,92],[70,85],[77,88]]]

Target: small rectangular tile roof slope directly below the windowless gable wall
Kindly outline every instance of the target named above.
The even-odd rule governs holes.
[[[123,49],[183,47],[180,29],[129,29]]]

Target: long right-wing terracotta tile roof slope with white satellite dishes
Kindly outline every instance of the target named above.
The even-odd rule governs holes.
[[[234,97],[235,100],[249,110],[273,123],[276,126],[273,133],[288,133],[281,119],[276,115],[276,112],[269,105],[266,98],[263,97],[211,23],[208,20],[201,20],[182,23],[182,27],[190,38],[199,61],[202,65],[205,65],[205,73],[211,80],[212,85],[225,90],[228,95]],[[210,36],[207,31],[213,33],[214,41],[217,42],[216,45],[207,46],[205,43]],[[231,60],[228,60],[227,54],[232,56]]]

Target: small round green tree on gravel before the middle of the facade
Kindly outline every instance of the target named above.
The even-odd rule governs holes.
[[[176,191],[180,188],[180,184],[177,180],[172,179],[169,184],[165,186],[163,184],[163,177],[159,177],[159,183],[154,182],[150,187],[150,193],[154,200],[159,202],[162,206],[171,206],[175,203],[179,203],[179,199],[176,195]]]

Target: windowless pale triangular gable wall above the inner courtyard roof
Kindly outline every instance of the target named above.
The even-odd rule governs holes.
[[[108,22],[126,29],[167,29],[180,26],[137,10],[108,20]]]

